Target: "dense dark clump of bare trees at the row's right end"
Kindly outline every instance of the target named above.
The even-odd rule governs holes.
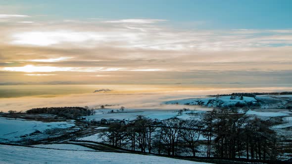
[[[277,135],[269,128],[273,123],[256,117],[249,117],[245,112],[226,109],[214,110],[203,119],[204,135],[207,138],[207,157],[275,160],[277,157]]]

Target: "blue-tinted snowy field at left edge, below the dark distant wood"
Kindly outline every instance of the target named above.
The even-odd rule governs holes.
[[[73,120],[67,122],[45,123],[24,119],[0,118],[0,142],[20,140],[21,136],[25,136],[26,138],[34,137],[29,134],[36,131],[38,131],[38,134],[42,134],[48,129],[68,128],[72,126],[75,126],[75,121]]]

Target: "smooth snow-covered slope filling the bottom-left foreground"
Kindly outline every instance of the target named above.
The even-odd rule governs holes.
[[[1,164],[206,164],[129,153],[88,152],[0,145]]]

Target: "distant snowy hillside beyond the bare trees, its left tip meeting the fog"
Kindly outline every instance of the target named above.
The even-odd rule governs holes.
[[[230,99],[230,96],[220,96],[217,97],[204,97],[204,98],[189,98],[181,100],[172,100],[166,101],[166,104],[180,104],[180,105],[204,105],[208,107],[215,107],[219,104],[222,106],[236,104],[237,102],[246,103],[246,102],[257,102],[253,97],[243,97],[243,100],[240,100],[239,97],[236,99]]]

